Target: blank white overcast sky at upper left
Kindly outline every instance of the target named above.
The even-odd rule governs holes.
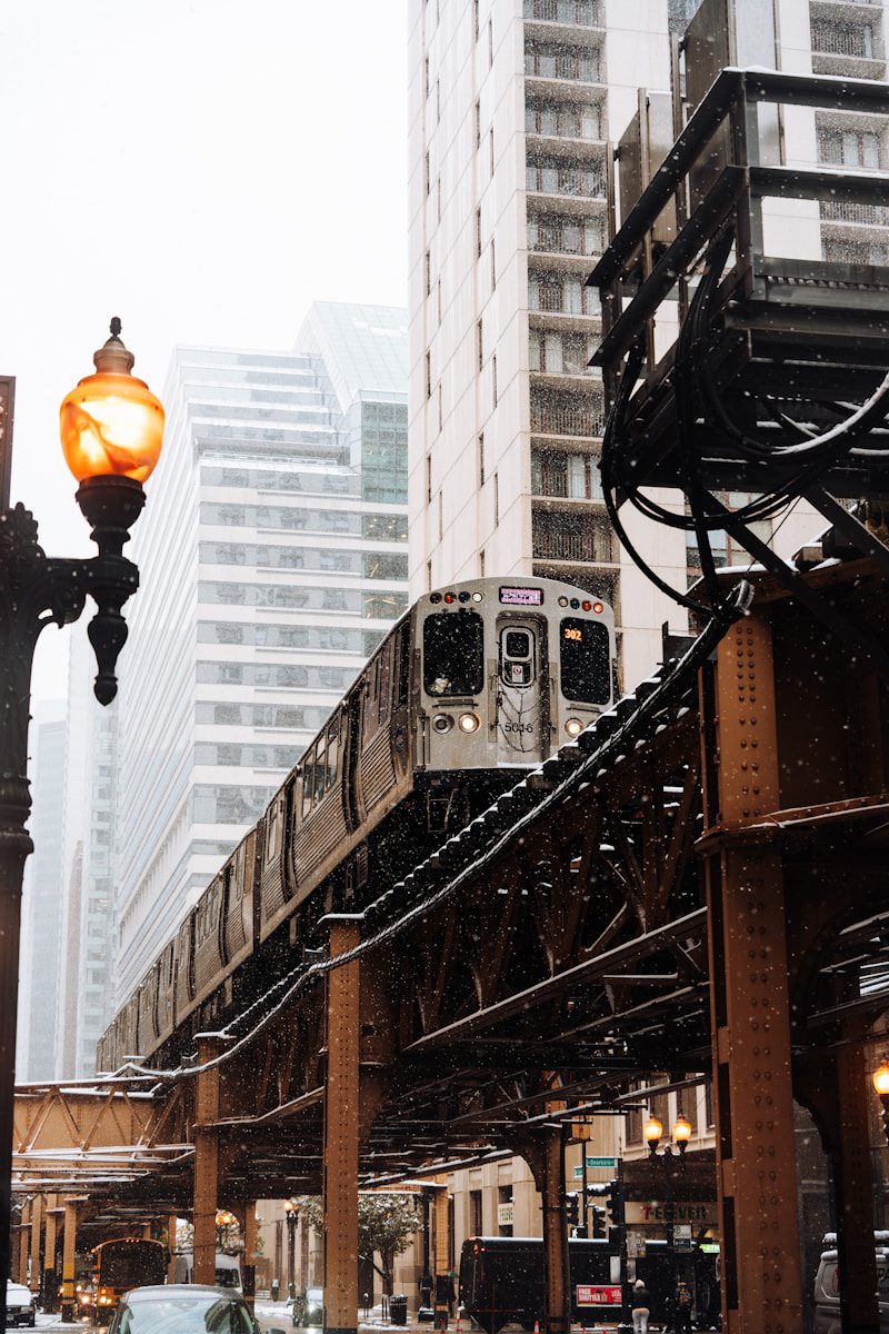
[[[405,41],[405,0],[0,4],[0,374],[48,554],[91,550],[59,403],[112,315],[160,392],[176,343],[289,348],[316,299],[407,303]]]

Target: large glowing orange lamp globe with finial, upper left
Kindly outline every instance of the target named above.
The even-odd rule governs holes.
[[[164,408],[144,380],[131,374],[135,356],[120,340],[121,324],[93,355],[88,375],[60,410],[61,450],[77,482],[151,476],[164,439]]]

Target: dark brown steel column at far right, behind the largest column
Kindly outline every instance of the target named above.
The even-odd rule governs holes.
[[[837,1217],[840,1317],[844,1334],[880,1334],[877,1255],[862,1238],[873,1234],[873,1167],[869,1105],[873,1097],[861,1046],[836,1055],[840,1125],[832,1154]]]

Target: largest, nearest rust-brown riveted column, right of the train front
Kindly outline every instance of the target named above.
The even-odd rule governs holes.
[[[702,676],[716,1161],[726,1334],[801,1334],[784,875],[742,827],[780,810],[772,635],[738,622]],[[741,836],[738,836],[741,834]]]

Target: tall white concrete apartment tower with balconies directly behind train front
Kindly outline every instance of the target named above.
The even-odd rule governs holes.
[[[409,61],[412,596],[482,570],[568,579],[614,602],[625,640],[652,631],[646,671],[670,608],[605,522],[584,283],[608,141],[638,87],[669,85],[666,0],[412,0]]]

